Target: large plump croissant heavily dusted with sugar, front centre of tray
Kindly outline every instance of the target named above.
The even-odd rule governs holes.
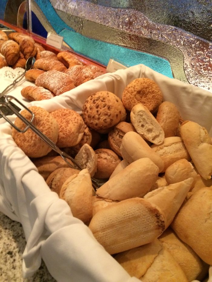
[[[39,59],[41,60],[41,59]],[[43,86],[58,96],[68,90],[75,88],[74,82],[71,77],[57,70],[49,70],[42,73],[35,80],[36,86]]]

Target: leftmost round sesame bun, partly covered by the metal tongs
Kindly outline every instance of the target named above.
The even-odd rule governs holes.
[[[32,106],[29,107],[29,109],[35,114],[33,125],[51,139],[51,141],[56,143],[58,140],[59,129],[55,118],[41,107]],[[31,120],[31,114],[28,110],[21,111],[21,114],[27,120]],[[18,117],[15,119],[14,124],[21,130],[26,127],[25,123],[23,123]],[[15,128],[12,128],[12,137],[18,147],[20,147],[28,157],[43,157],[51,151],[51,147],[42,141],[41,138],[30,128],[24,133],[18,132]]]

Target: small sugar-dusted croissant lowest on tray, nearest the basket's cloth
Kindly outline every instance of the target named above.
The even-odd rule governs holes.
[[[21,95],[30,101],[41,101],[55,96],[42,86],[26,86],[21,90]]]

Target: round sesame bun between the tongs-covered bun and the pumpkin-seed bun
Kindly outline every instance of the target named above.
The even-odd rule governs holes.
[[[59,125],[58,147],[77,145],[84,135],[85,124],[81,116],[71,109],[58,109],[51,112]]]

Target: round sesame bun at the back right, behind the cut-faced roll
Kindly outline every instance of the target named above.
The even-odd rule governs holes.
[[[146,77],[131,81],[122,94],[122,102],[128,111],[142,103],[151,113],[154,113],[162,103],[162,98],[162,92],[157,83]]]

